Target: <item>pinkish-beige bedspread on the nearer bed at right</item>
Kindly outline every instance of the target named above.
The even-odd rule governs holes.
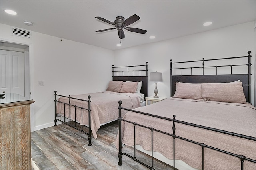
[[[124,102],[123,102],[124,103]],[[124,106],[122,106],[124,107]],[[250,104],[235,104],[213,101],[197,101],[188,99],[168,98],[145,107],[135,109],[154,115],[195,123],[238,134],[256,137],[256,108]],[[138,124],[153,127],[172,134],[172,122],[152,118],[138,113],[128,112],[123,117]],[[228,136],[217,132],[195,128],[176,123],[176,135],[202,142],[206,145],[223,149],[235,154],[242,154],[256,160],[256,141]],[[153,150],[173,159],[173,139],[158,132],[153,133]],[[134,145],[134,125],[122,121],[122,143]],[[151,150],[151,132],[145,128],[136,127],[136,144],[145,150]],[[118,137],[116,140],[118,148]],[[175,159],[182,160],[194,168],[202,167],[202,149],[180,139],[176,139]],[[238,170],[240,159],[211,149],[204,149],[204,169],[206,170]],[[245,161],[244,170],[255,170],[256,164]]]

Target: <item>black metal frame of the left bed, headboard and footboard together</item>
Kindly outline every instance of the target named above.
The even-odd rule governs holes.
[[[138,69],[138,70],[131,70],[130,68],[142,68],[142,69]],[[145,68],[144,68],[145,67]],[[116,71],[116,69],[121,68],[121,71],[118,70]],[[139,72],[139,75],[136,76],[134,73]],[[115,75],[115,73],[117,75]],[[122,75],[120,75],[120,73],[122,73]],[[127,75],[125,74],[127,73]],[[129,73],[132,73],[132,75],[129,75]],[[113,81],[117,81],[117,80],[123,80],[123,81],[143,81],[142,83],[142,88],[141,88],[141,93],[144,94],[144,97],[147,97],[148,95],[148,62],[146,62],[146,65],[132,65],[132,66],[123,66],[123,67],[114,67],[114,65],[112,65],[112,80]],[[66,125],[69,125],[70,127],[73,127],[77,130],[79,130],[80,132],[83,132],[85,134],[87,134],[88,136],[88,146],[92,145],[92,135],[91,135],[91,96],[88,96],[88,100],[84,100],[84,99],[78,99],[78,98],[74,98],[74,97],[70,97],[69,96],[64,96],[64,95],[58,95],[57,91],[54,91],[54,102],[55,102],[55,112],[54,112],[54,126],[57,126],[57,121],[60,121]],[[57,96],[58,97],[66,97],[68,98],[68,103],[64,103],[64,102],[60,102],[57,100]],[[80,101],[85,101],[88,102],[88,107],[82,107],[82,106],[76,106],[76,105],[72,105],[70,104],[70,99],[74,99],[74,100],[80,100]],[[60,113],[57,113],[57,104],[63,104],[64,105],[64,116],[62,116]],[[65,113],[65,108],[68,107],[69,108],[69,117],[66,117],[66,113]],[[74,107],[75,109],[75,120],[72,120],[70,118],[70,108]],[[88,111],[88,128],[86,128],[86,131],[84,130],[84,126],[83,124],[80,124],[78,122],[76,122],[76,111],[77,109],[81,109],[81,113],[83,113],[83,111]],[[83,114],[82,114],[83,115]],[[82,117],[81,115],[81,117]],[[63,120],[64,119],[64,120]],[[66,119],[68,119],[68,121],[66,121]],[[74,122],[71,122],[74,121]],[[108,125],[113,124],[114,122],[117,122],[117,120],[107,123],[105,125],[102,125],[100,128],[106,127]],[[88,130],[88,131],[87,131]]]

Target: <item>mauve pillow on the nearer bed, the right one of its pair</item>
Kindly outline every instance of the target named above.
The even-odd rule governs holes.
[[[246,103],[242,82],[202,83],[202,96],[205,101]]]

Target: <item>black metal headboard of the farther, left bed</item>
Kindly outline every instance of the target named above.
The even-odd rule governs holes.
[[[112,65],[112,80],[142,81],[140,93],[144,94],[145,100],[145,97],[148,97],[148,62],[146,62],[146,65],[128,65],[123,67],[114,67]]]

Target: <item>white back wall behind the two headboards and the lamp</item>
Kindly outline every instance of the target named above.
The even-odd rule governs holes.
[[[170,30],[171,31],[171,30]],[[157,37],[156,37],[157,38]],[[158,96],[170,97],[170,59],[173,62],[236,57],[252,51],[252,83],[255,79],[254,22],[229,26],[180,38],[114,51],[115,65],[137,65],[148,61],[148,73],[163,73]],[[149,79],[148,79],[149,80]],[[254,103],[252,85],[252,103]],[[148,95],[154,95],[154,82],[148,82]]]

